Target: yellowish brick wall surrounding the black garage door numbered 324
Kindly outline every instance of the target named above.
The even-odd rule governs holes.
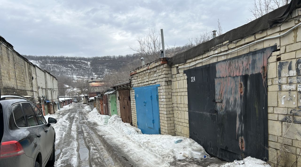
[[[232,51],[255,40],[276,36],[286,32],[300,23],[301,9],[295,9],[288,20],[270,29],[262,30],[254,35],[235,41],[225,41],[202,55],[186,60],[186,63],[172,65],[172,103],[175,117],[175,134],[188,137],[188,102],[187,77],[183,68],[213,54]],[[259,42],[243,49],[219,57],[213,57],[192,67],[203,66],[216,61],[228,59],[250,51],[277,45],[275,51],[268,58],[268,146],[269,159],[273,161],[281,143],[287,150],[283,154],[287,158],[281,159],[281,166],[290,166],[298,162],[301,166],[301,91],[297,90],[301,84],[301,27],[277,39]],[[291,123],[293,120],[293,123]],[[283,157],[284,157],[283,156]],[[296,164],[295,164],[296,166]]]

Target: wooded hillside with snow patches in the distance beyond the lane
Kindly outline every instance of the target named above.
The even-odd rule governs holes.
[[[118,71],[129,65],[136,68],[137,64],[140,64],[138,56],[23,56],[56,77],[66,77],[74,81],[91,78],[104,79],[104,76],[113,70]]]

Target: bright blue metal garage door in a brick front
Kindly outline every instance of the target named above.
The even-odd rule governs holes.
[[[144,134],[160,134],[158,86],[134,88],[137,125]]]

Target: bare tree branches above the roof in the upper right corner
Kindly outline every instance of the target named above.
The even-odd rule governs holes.
[[[290,0],[254,0],[253,8],[249,9],[252,16],[247,19],[247,22],[255,20],[288,3],[290,3]]]

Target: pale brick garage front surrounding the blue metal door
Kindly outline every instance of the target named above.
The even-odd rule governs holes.
[[[131,72],[132,87],[160,84],[159,114],[160,130],[163,135],[175,135],[175,125],[171,100],[171,67],[166,59],[158,59]],[[133,125],[137,127],[135,91],[130,90]]]

